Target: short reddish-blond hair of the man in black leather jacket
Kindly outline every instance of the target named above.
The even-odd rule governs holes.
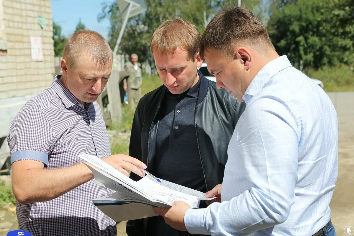
[[[188,59],[195,60],[199,50],[200,33],[197,27],[176,17],[162,23],[153,33],[150,50],[162,54],[174,53],[178,48],[184,49]]]

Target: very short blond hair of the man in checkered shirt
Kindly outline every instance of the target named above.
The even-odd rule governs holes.
[[[70,35],[65,43],[63,59],[69,68],[78,66],[83,55],[92,57],[99,66],[113,62],[113,52],[107,41],[93,30],[79,30]]]

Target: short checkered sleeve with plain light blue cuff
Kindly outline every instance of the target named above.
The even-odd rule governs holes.
[[[13,120],[7,137],[11,164],[34,160],[47,165],[55,139],[52,126],[42,111],[36,108],[21,110]]]

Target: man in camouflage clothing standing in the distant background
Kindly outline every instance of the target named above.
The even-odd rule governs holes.
[[[141,89],[140,86],[143,82],[141,76],[141,64],[138,62],[138,55],[133,53],[130,56],[130,62],[125,64],[125,69],[130,71],[128,83],[130,85],[130,92],[132,93],[132,99],[135,104],[139,102],[141,98]]]

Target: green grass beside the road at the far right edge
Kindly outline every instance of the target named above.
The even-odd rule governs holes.
[[[354,71],[351,71],[349,66],[309,69],[307,75],[310,78],[321,80],[326,92],[354,91]]]

